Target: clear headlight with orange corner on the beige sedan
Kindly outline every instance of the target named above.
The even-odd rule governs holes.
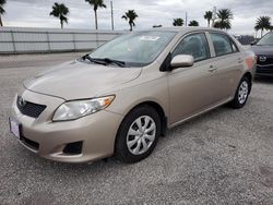
[[[108,107],[115,96],[99,97],[84,100],[73,100],[62,104],[54,114],[52,121],[75,120],[95,113]]]

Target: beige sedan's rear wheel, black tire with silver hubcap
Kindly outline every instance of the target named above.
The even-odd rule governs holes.
[[[237,87],[234,99],[230,101],[229,106],[234,109],[242,108],[249,97],[251,91],[251,82],[248,77],[244,76]]]

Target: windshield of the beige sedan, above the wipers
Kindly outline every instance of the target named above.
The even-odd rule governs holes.
[[[111,59],[128,67],[144,67],[152,63],[166,48],[175,32],[138,32],[106,43],[90,53],[92,59]]]

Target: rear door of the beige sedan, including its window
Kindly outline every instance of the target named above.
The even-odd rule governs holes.
[[[219,99],[227,100],[234,97],[234,92],[240,81],[244,70],[244,57],[234,40],[224,33],[211,32],[209,40],[214,47],[214,62],[217,74]]]

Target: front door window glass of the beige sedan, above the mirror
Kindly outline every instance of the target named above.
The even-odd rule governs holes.
[[[194,61],[201,61],[211,57],[206,37],[204,34],[191,34],[186,36],[173,52],[173,58],[177,55],[191,55]]]

